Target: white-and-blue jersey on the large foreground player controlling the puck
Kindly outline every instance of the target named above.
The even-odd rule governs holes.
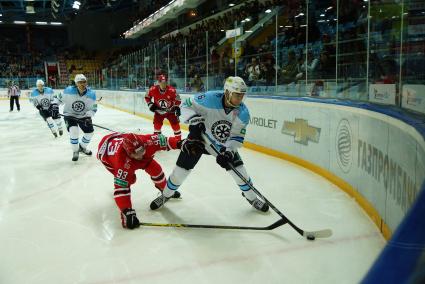
[[[226,147],[236,151],[243,144],[246,127],[249,123],[249,111],[244,103],[226,113],[223,101],[224,93],[210,91],[187,98],[182,104],[181,120],[190,123],[196,116],[205,119],[206,134],[218,148]]]

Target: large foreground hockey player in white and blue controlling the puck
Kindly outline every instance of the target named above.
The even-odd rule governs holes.
[[[163,195],[152,201],[152,210],[160,208],[189,176],[202,154],[214,155],[209,146],[204,147],[202,133],[212,142],[220,154],[216,162],[232,176],[242,190],[242,196],[257,210],[267,212],[269,206],[261,200],[229,167],[231,163],[244,178],[251,179],[238,153],[244,142],[249,111],[242,102],[246,84],[240,77],[228,77],[222,91],[210,91],[188,98],[182,105],[183,122],[189,124],[189,135],[182,143],[176,166],[167,180]]]

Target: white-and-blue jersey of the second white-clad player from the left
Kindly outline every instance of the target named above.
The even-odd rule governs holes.
[[[59,102],[64,105],[63,114],[75,118],[93,117],[97,111],[96,93],[87,88],[80,94],[77,87],[67,87],[58,95]]]

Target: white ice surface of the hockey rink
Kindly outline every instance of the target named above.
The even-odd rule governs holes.
[[[356,202],[324,178],[287,161],[240,151],[256,188],[304,230],[330,228],[309,242],[289,225],[272,231],[141,227],[125,230],[113,177],[95,156],[72,162],[68,133],[55,139],[28,101],[0,101],[0,283],[358,283],[385,240]],[[151,133],[152,122],[99,107],[99,124]],[[248,127],[249,132],[249,127]],[[94,152],[108,131],[95,128]],[[169,126],[164,134],[170,135]],[[186,133],[183,133],[186,136]],[[168,176],[178,151],[160,152]],[[158,211],[142,171],[132,187],[143,222],[267,226],[231,177],[203,156],[182,199]]]

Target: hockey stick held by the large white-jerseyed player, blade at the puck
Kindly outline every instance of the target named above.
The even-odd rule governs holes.
[[[215,145],[211,142],[209,137],[205,133],[202,133],[202,137],[204,138],[208,146],[217,155],[219,155],[219,151],[215,148]],[[332,235],[332,230],[330,229],[319,231],[304,231],[300,229],[297,225],[292,223],[282,212],[280,212],[267,198],[265,198],[249,181],[247,181],[246,178],[231,163],[229,163],[229,167],[241,180],[243,180],[243,182],[245,182],[252,189],[252,191],[254,191],[260,198],[262,198],[273,209],[273,211],[276,212],[282,218],[285,223],[288,223],[295,231],[298,232],[298,234],[300,234],[307,240],[314,240],[315,238],[328,238]]]

